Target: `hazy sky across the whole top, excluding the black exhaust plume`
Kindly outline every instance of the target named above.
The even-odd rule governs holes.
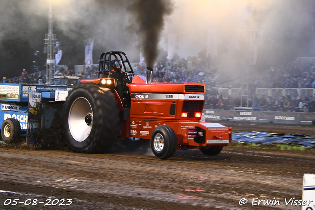
[[[134,59],[139,57],[139,46],[143,44],[144,39],[135,30],[130,30],[137,24],[134,11],[130,9],[130,4],[134,1],[51,1],[55,29],[62,30],[74,40],[80,37],[93,38],[95,48],[100,52],[120,50]],[[255,42],[260,58],[270,60],[267,58],[270,53],[275,53],[274,60],[315,56],[314,1],[160,1],[171,2],[171,8],[163,16],[165,22],[161,26],[158,46],[166,49],[167,35],[175,33],[178,36],[176,53],[181,57],[197,55],[204,49],[207,29],[212,28],[217,31],[218,44],[227,49],[226,53],[229,54],[227,58],[235,59],[233,55],[240,51],[240,39],[244,36],[242,27],[247,20],[249,2],[252,2],[254,9],[252,26],[260,31]],[[20,37],[29,40],[30,43],[43,42],[44,34],[41,38],[35,39],[33,32],[43,27],[47,29],[48,5],[49,0],[0,0],[0,41],[8,37]],[[155,16],[159,12],[155,9],[144,9],[142,12]],[[89,30],[85,30],[86,28]],[[58,39],[58,34],[56,35]],[[100,52],[94,56],[98,57]],[[84,48],[78,53],[84,54]]]

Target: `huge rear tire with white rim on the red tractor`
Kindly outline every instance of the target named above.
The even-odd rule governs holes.
[[[63,107],[63,134],[69,148],[82,153],[105,153],[118,131],[118,108],[112,92],[82,83],[70,92]]]

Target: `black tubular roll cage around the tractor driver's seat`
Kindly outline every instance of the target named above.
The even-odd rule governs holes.
[[[112,58],[111,58],[112,56],[121,60],[122,72],[125,73],[126,78],[128,78],[129,82],[131,83],[133,76],[134,76],[134,71],[132,69],[132,66],[131,66],[126,54],[122,51],[109,51],[109,52],[103,52],[100,54],[100,58],[98,61],[99,65],[98,65],[97,78],[109,78],[110,77],[110,72],[112,70]],[[127,70],[126,64],[130,70],[129,69]]]

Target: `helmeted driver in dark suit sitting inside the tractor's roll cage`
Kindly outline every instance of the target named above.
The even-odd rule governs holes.
[[[126,98],[123,96],[123,91],[129,91],[127,78],[124,72],[122,72],[122,62],[117,58],[112,60],[112,71],[110,72],[110,78],[115,79],[114,89],[117,91],[119,97],[121,98],[123,104],[126,104]],[[126,85],[125,85],[126,83]]]

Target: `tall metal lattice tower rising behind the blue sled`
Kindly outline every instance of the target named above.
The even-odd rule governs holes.
[[[53,34],[53,12],[51,11],[51,0],[49,0],[48,12],[48,33],[45,35],[45,50],[47,52],[46,60],[46,84],[53,84],[55,73],[55,54],[54,49],[56,46],[56,34]]]

